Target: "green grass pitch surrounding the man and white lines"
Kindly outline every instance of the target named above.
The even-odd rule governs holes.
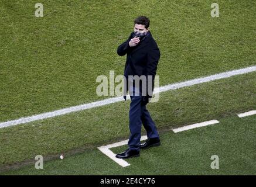
[[[219,18],[211,17],[209,0],[41,1],[44,16],[36,18],[37,1],[0,0],[0,122],[108,98],[96,95],[95,80],[111,70],[122,75],[117,47],[139,15],[151,19],[161,50],[160,86],[256,65],[256,2],[214,2]],[[163,144],[127,168],[96,147],[128,138],[129,101],[2,128],[0,175],[255,174],[255,116],[235,116],[255,106],[256,72],[162,92],[148,109]],[[169,131],[211,119],[221,123]],[[220,169],[210,168],[213,154]],[[46,159],[42,171],[33,167],[36,155]]]

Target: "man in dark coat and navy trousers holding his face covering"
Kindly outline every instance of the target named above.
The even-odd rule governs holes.
[[[118,49],[117,54],[124,56],[127,54],[127,61],[125,63],[124,78],[125,88],[131,96],[131,104],[129,109],[129,130],[131,136],[129,137],[129,148],[123,153],[117,154],[117,158],[131,158],[139,157],[140,149],[149,148],[152,146],[160,146],[160,139],[155,123],[153,122],[146,104],[152,94],[149,94],[148,88],[151,87],[153,91],[153,81],[146,81],[147,88],[141,88],[144,85],[139,84],[134,86],[134,81],[130,79],[131,75],[138,75],[139,77],[152,76],[153,79],[156,74],[158,61],[160,58],[160,51],[153,39],[151,32],[149,32],[149,19],[145,16],[139,16],[134,20],[134,32],[131,33],[128,40],[122,43]],[[130,75],[130,76],[129,76]],[[130,84],[132,82],[132,84]],[[149,86],[149,84],[152,84]],[[146,89],[146,94],[142,94],[142,90]],[[125,89],[124,99],[126,100],[127,89]],[[141,124],[143,124],[148,140],[141,144]]]

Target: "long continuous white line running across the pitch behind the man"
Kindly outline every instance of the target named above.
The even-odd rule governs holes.
[[[240,70],[223,72],[223,73],[216,74],[216,75],[210,75],[208,77],[196,78],[196,79],[192,79],[192,80],[185,81],[185,82],[178,82],[176,84],[169,84],[169,85],[161,86],[160,88],[156,88],[154,93],[165,92],[165,91],[169,91],[171,89],[183,88],[185,86],[201,84],[203,82],[210,82],[210,81],[214,81],[217,79],[228,78],[228,77],[232,77],[234,75],[246,74],[248,72],[253,72],[253,71],[256,71],[256,65],[247,67],[247,68],[243,68]],[[129,97],[127,97],[127,99],[129,99]],[[8,122],[2,122],[2,123],[0,123],[0,128],[15,126],[17,124],[34,122],[36,120],[42,120],[42,119],[47,119],[49,117],[65,115],[67,113],[77,112],[80,110],[86,110],[86,109],[90,109],[90,108],[95,108],[98,106],[104,106],[104,105],[108,105],[108,104],[116,103],[116,102],[120,102],[120,101],[124,101],[122,96],[118,96],[118,97],[110,98],[110,99],[104,99],[102,101],[97,101],[97,102],[92,102],[92,103],[86,103],[83,105],[72,106],[70,108],[54,110],[53,112],[42,113],[42,114],[35,115],[35,116],[22,117],[22,118],[16,119],[16,120],[10,120]]]

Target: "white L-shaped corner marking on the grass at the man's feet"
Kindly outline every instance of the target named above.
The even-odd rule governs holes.
[[[146,136],[142,136],[141,137],[141,141],[143,140],[146,140],[147,137]],[[120,141],[118,143],[114,143],[114,144],[110,144],[110,145],[107,145],[107,146],[101,146],[101,147],[98,147],[98,149],[104,153],[105,155],[107,155],[108,157],[110,157],[112,160],[114,160],[115,162],[117,162],[117,164],[121,165],[122,167],[127,167],[129,166],[130,164],[127,162],[127,161],[124,161],[120,158],[116,158],[115,157],[115,154],[110,150],[110,148],[113,148],[113,147],[119,147],[119,146],[124,146],[128,144],[128,140],[124,140],[124,141]]]

